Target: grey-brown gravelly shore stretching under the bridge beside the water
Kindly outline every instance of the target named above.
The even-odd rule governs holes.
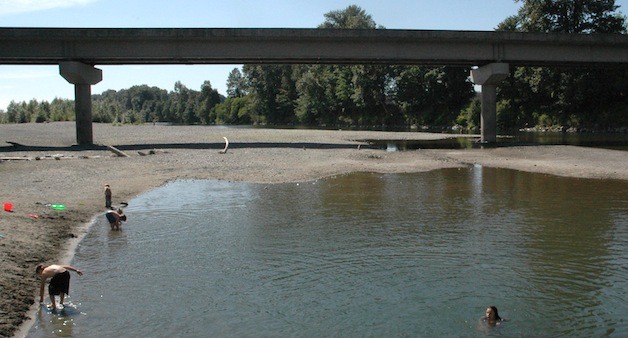
[[[174,179],[279,183],[349,172],[402,173],[474,163],[552,175],[628,180],[628,153],[573,146],[386,152],[365,139],[420,140],[451,135],[397,132],[271,130],[206,126],[94,124],[94,142],[75,143],[74,123],[0,125],[0,336],[21,335],[36,308],[35,264],[67,263],[68,251],[104,209]],[[227,137],[227,153],[219,151]],[[141,153],[141,154],[140,154]],[[152,154],[151,154],[152,153]],[[64,204],[52,210],[47,204]],[[70,249],[70,250],[69,250]],[[86,271],[85,273],[89,273]],[[24,328],[24,326],[22,326]],[[18,333],[19,332],[19,333]]]

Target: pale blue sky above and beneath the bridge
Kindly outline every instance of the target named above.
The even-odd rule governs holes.
[[[626,13],[628,0],[616,4]],[[513,0],[0,0],[2,27],[316,28],[324,14],[360,6],[388,29],[493,30],[516,14]],[[172,90],[176,81],[199,90],[209,80],[225,95],[228,73],[239,65],[98,66],[98,94],[146,84]],[[74,98],[58,66],[0,65],[0,109],[11,100]]]

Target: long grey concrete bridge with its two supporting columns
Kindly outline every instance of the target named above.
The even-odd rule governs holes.
[[[482,142],[497,139],[496,90],[513,66],[628,66],[628,35],[268,28],[0,28],[0,64],[58,64],[75,86],[76,139],[92,144],[96,65],[418,64],[476,67]]]

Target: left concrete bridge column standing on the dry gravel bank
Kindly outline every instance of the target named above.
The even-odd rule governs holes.
[[[81,62],[59,63],[59,73],[74,84],[74,113],[76,114],[76,143],[94,143],[92,133],[92,85],[102,81],[102,70]]]

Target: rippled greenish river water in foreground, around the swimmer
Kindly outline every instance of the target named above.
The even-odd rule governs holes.
[[[31,337],[628,335],[628,183],[504,169],[175,181],[99,216]],[[507,321],[479,323],[496,305]]]

